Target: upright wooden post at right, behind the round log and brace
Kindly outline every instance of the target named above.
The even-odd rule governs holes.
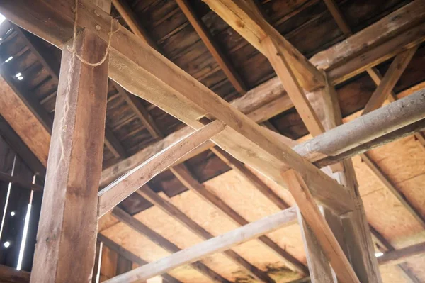
[[[333,86],[327,84],[324,89],[307,95],[307,99],[310,100],[314,109],[325,109],[324,111],[317,111],[318,113],[324,113],[324,116],[318,118],[322,121],[325,130],[341,125],[341,110]],[[353,162],[351,160],[344,161],[343,167],[339,172],[331,172],[331,168],[327,168],[327,173],[346,187],[351,194],[353,202],[356,204],[355,211],[342,217],[335,216],[331,211],[323,209],[327,223],[331,227],[336,239],[339,241],[348,260],[351,262],[358,279],[361,282],[382,282],[378,269],[378,262],[373,250],[373,242],[370,238],[368,222],[365,217],[363,202],[358,192]],[[310,244],[316,241],[312,238],[311,233],[308,235],[305,234],[304,236],[307,238],[305,240],[310,241]],[[317,253],[312,254],[312,256],[313,255],[317,255]],[[321,262],[317,260],[312,260],[312,262],[314,265],[322,265]],[[312,275],[313,279],[314,270],[327,270],[327,265],[312,267],[309,262],[309,268],[311,268],[310,275]],[[316,282],[329,281],[317,280]]]

